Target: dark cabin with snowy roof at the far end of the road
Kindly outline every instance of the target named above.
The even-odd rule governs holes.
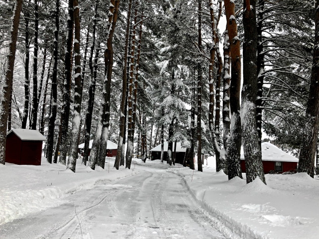
[[[168,148],[168,142],[164,142],[164,160],[167,158],[167,148]],[[161,144],[156,146],[155,148],[152,148],[151,151],[151,159],[156,160],[160,159],[160,150],[161,150]],[[173,142],[173,148],[172,153],[174,152],[174,142]],[[186,148],[183,148],[179,142],[176,143],[176,158],[175,163],[183,164],[184,157],[185,157]]]

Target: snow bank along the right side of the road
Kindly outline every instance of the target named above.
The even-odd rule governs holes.
[[[306,173],[266,175],[250,184],[222,171],[189,169],[179,174],[195,200],[244,239],[317,239],[319,178]],[[232,236],[236,238],[236,236]]]

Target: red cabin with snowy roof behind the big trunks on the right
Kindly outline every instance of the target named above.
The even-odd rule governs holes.
[[[279,173],[287,172],[289,170],[297,169],[298,158],[284,152],[277,146],[269,142],[263,142],[261,144],[262,162],[264,166],[264,172],[276,171]],[[244,152],[240,155],[241,169],[243,173],[246,173],[246,165],[244,159]]]

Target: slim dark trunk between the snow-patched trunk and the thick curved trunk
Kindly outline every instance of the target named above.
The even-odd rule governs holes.
[[[84,153],[82,158],[82,164],[86,165],[86,162],[89,158],[89,143],[90,143],[90,136],[91,136],[91,124],[92,124],[92,114],[93,114],[93,107],[94,107],[94,96],[95,96],[95,83],[96,72],[94,72],[93,66],[93,53],[95,47],[95,31],[96,31],[96,18],[97,18],[97,10],[98,10],[98,3],[99,0],[95,1],[95,13],[93,19],[93,30],[92,30],[92,44],[91,44],[91,51],[89,57],[89,68],[90,68],[90,81],[89,81],[89,101],[88,107],[85,116],[85,137],[84,137]],[[98,55],[98,50],[96,51],[96,56]]]

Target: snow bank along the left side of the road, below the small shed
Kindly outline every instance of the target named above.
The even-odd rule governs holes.
[[[124,167],[116,170],[113,164],[109,172],[108,163],[106,170],[97,167],[94,171],[81,165],[81,160],[78,160],[76,173],[65,170],[66,166],[59,163],[49,164],[45,158],[42,158],[41,166],[1,165],[0,225],[28,213],[55,207],[74,191],[90,189],[96,184],[136,174],[135,170]]]

